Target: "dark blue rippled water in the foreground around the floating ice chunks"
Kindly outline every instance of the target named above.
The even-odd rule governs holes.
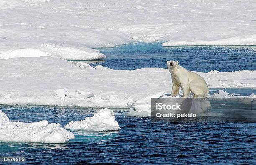
[[[230,89],[236,93],[235,89]],[[215,93],[217,89],[211,90]],[[244,89],[246,92],[255,92]],[[241,92],[241,91],[239,91]],[[244,95],[244,94],[243,94]],[[36,105],[0,105],[11,121],[66,125],[84,120],[99,109]],[[20,164],[255,164],[256,123],[204,120],[154,121],[128,117],[128,109],[112,109],[121,130],[72,130],[75,139],[64,144],[0,143],[0,157],[22,156]],[[212,112],[220,110],[214,109]]]

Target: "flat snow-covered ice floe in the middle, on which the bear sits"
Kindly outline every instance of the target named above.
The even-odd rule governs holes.
[[[172,90],[169,70],[161,68],[92,68],[54,57],[5,59],[0,66],[0,104],[131,108]],[[210,88],[256,87],[256,71],[197,73]]]

